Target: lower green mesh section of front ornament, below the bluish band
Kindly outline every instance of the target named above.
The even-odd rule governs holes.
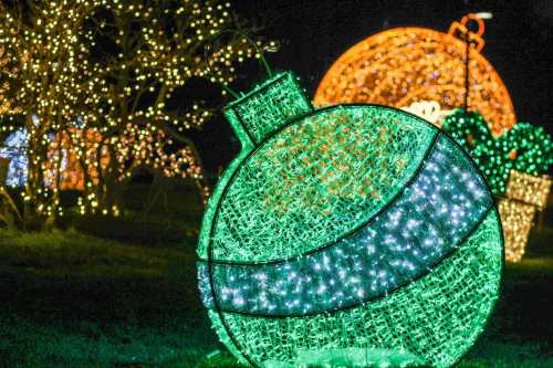
[[[449,367],[472,346],[495,303],[502,241],[494,210],[452,256],[421,280],[367,305],[332,315],[263,318],[223,313],[234,343],[225,338],[219,314],[209,316],[222,341],[240,358],[294,362],[302,350],[359,347],[409,351],[428,366]],[[241,353],[239,353],[241,351]]]

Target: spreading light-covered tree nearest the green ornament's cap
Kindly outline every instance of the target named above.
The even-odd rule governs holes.
[[[94,54],[105,80],[97,123],[111,159],[102,165],[102,155],[95,156],[100,182],[85,178],[88,191],[82,211],[117,213],[121,192],[138,168],[191,178],[207,199],[209,189],[189,133],[200,129],[212,109],[195,96],[190,83],[228,84],[236,78],[234,64],[255,56],[242,36],[212,42],[219,32],[239,27],[229,8],[220,1],[136,0],[93,19],[98,45]]]

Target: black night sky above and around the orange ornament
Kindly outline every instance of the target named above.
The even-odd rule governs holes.
[[[349,46],[382,30],[418,25],[447,32],[467,12],[491,11],[482,54],[505,83],[519,122],[544,126],[553,134],[551,82],[553,1],[377,1],[377,0],[234,0],[236,12],[280,42],[267,54],[273,70],[294,71],[310,96],[334,61]],[[262,70],[239,67],[241,90],[259,82]],[[239,143],[222,115],[198,136],[206,167],[226,166]]]

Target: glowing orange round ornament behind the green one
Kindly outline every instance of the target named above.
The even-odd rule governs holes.
[[[470,21],[478,25],[476,32],[468,29]],[[398,28],[374,34],[347,50],[331,66],[314,103],[376,103],[401,108],[434,101],[442,109],[467,105],[469,111],[478,111],[492,134],[499,136],[514,125],[515,116],[505,85],[480,54],[483,31],[483,21],[468,14],[453,22],[448,33]]]

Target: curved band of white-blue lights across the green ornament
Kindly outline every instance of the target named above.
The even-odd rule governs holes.
[[[452,169],[450,169],[452,168]],[[471,162],[441,136],[385,212],[344,240],[293,260],[212,265],[219,308],[264,316],[311,315],[357,305],[422,276],[458,249],[492,206]],[[208,263],[204,304],[213,307]]]

